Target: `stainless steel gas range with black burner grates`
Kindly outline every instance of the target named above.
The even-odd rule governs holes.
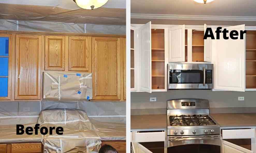
[[[220,152],[220,125],[209,115],[209,101],[167,101],[167,152]],[[194,151],[192,151],[194,150]]]

